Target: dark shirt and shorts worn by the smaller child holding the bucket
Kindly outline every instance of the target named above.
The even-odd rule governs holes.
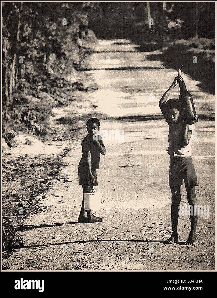
[[[99,136],[99,143],[102,147],[105,147],[103,144],[102,137]],[[88,186],[98,186],[96,170],[99,169],[100,164],[100,151],[97,145],[92,141],[92,139],[87,135],[81,142],[82,146],[82,157],[78,165],[78,184],[79,185],[88,185]],[[91,172],[95,178],[94,183],[91,183],[91,176],[89,173],[88,164],[86,161],[86,154],[90,151],[91,154]]]

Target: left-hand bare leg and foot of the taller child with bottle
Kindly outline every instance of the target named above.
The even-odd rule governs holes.
[[[179,219],[179,205],[181,202],[181,186],[171,186],[172,204],[171,204],[171,222],[172,222],[172,236],[166,240],[167,243],[178,242],[178,219]]]

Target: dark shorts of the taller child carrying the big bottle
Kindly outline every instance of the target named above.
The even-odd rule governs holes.
[[[169,186],[183,185],[186,187],[198,185],[192,157],[174,157],[169,162]]]

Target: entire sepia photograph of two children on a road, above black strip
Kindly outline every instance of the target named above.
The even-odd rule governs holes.
[[[1,1],[1,33],[1,271],[216,271],[216,1]]]

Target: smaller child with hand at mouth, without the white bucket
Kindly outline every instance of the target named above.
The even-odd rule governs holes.
[[[100,222],[102,218],[93,215],[92,211],[84,210],[84,193],[93,193],[94,186],[98,186],[96,170],[99,169],[100,153],[106,155],[106,148],[102,137],[98,134],[100,121],[90,118],[87,121],[88,134],[81,142],[82,157],[78,165],[78,184],[83,188],[83,200],[78,223]]]

